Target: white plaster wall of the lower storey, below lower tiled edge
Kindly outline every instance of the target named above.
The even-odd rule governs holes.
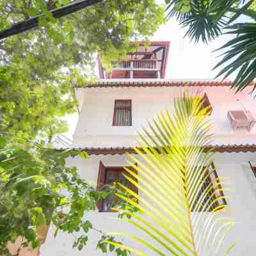
[[[230,185],[232,188],[231,195],[226,193],[228,206],[232,209],[232,216],[236,218],[236,229],[232,236],[228,238],[230,241],[237,241],[237,246],[230,253],[233,256],[241,255],[255,255],[256,250],[256,178],[250,170],[248,161],[255,161],[256,154],[252,153],[218,153],[216,154],[214,164],[220,177],[230,177]],[[105,166],[124,166],[125,156],[92,156],[90,159],[68,159],[69,165],[76,165],[79,173],[88,182],[92,182],[96,186],[97,175],[99,170],[99,161]],[[115,213],[107,212],[90,212],[86,218],[92,220],[93,226],[104,232],[130,232],[131,234],[138,234],[138,231],[131,227],[131,225],[116,220]],[[49,231],[45,244],[41,247],[41,256],[66,256],[66,255],[92,255],[100,256],[102,253],[95,250],[99,234],[97,232],[90,232],[90,241],[88,246],[82,252],[72,249],[72,242],[74,238],[71,235],[60,234],[56,239],[53,237],[52,228]],[[131,241],[124,241],[125,244],[131,245]],[[144,250],[138,244],[132,244],[135,248]],[[149,256],[154,253],[149,253]],[[110,253],[109,255],[113,255]],[[167,254],[168,255],[168,254]],[[224,254],[220,254],[224,255]],[[205,253],[202,256],[209,256]]]

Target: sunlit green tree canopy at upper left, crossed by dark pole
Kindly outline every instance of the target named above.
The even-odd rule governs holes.
[[[25,138],[67,131],[61,118],[76,111],[74,86],[95,80],[95,54],[108,66],[125,58],[130,40],[153,35],[164,22],[164,9],[154,0],[110,0],[52,17],[50,10],[72,2],[1,1],[0,30],[44,14],[40,28],[0,42],[1,131]]]

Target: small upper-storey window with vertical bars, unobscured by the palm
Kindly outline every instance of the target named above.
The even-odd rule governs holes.
[[[132,100],[115,100],[113,126],[132,125]]]

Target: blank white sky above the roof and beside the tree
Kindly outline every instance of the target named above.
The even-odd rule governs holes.
[[[161,1],[161,0],[159,0]],[[232,37],[221,35],[209,44],[190,42],[184,38],[186,29],[179,26],[175,19],[170,19],[150,38],[155,41],[170,41],[166,79],[214,79],[220,71],[212,68],[221,60],[220,52],[213,52],[228,42]],[[234,75],[228,77],[234,79]],[[72,138],[76,129],[78,115],[67,116],[69,131],[65,134]]]

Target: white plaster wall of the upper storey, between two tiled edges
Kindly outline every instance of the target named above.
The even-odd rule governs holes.
[[[153,88],[84,88],[83,108],[74,134],[77,147],[129,147],[136,139],[141,127],[147,127],[147,120],[152,121],[156,113],[168,109],[173,113],[173,97],[184,90],[180,87]],[[196,88],[190,88],[194,91]],[[256,143],[256,125],[248,131],[232,131],[227,118],[228,110],[250,109],[256,117],[256,101],[250,95],[250,88],[235,94],[229,87],[202,87],[212,104],[211,119],[214,122],[216,144]],[[132,126],[113,127],[115,99],[132,100]],[[241,103],[237,102],[237,99]],[[242,105],[241,105],[242,104]]]

